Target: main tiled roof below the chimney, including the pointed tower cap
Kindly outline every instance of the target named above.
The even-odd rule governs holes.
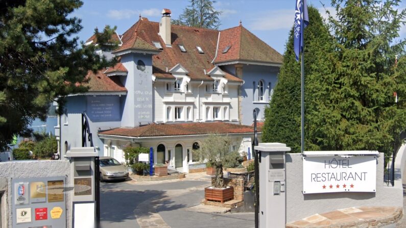
[[[174,78],[172,74],[166,72],[166,67],[171,69],[180,63],[189,71],[188,76],[191,79],[213,80],[204,73],[203,69],[211,69],[214,67],[211,61],[216,54],[217,39],[219,36],[218,31],[172,24],[172,47],[166,47],[158,33],[158,22],[138,20],[123,34],[122,41],[124,44],[120,49],[131,45],[134,36],[141,38],[151,45],[153,45],[152,41],[157,41],[160,42],[162,46],[162,52],[154,55],[152,58],[153,74],[157,78]],[[181,52],[178,44],[183,45],[186,52]],[[196,46],[200,46],[204,54],[200,54]],[[225,78],[230,81],[242,82],[241,79],[234,77],[230,73],[227,73]]]

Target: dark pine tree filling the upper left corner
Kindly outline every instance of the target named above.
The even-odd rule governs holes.
[[[75,86],[88,70],[110,63],[73,37],[82,26],[69,14],[79,0],[5,0],[0,2],[0,151],[34,118],[45,119],[60,96],[86,90]],[[108,43],[114,29],[97,33]],[[102,47],[104,45],[101,45]]]

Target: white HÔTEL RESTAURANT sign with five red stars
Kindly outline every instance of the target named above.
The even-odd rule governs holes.
[[[375,192],[376,156],[303,158],[303,194]]]

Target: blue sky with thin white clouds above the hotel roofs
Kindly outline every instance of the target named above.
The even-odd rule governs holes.
[[[80,40],[89,38],[94,28],[103,29],[106,24],[117,26],[117,33],[123,34],[138,20],[139,14],[151,21],[160,20],[163,8],[171,9],[172,18],[177,19],[183,9],[189,5],[188,0],[83,0],[83,7],[74,12],[74,16],[82,19],[83,30],[78,34]],[[289,29],[294,20],[295,0],[223,0],[214,4],[217,10],[223,11],[220,30],[238,25],[243,26],[264,40],[279,53],[284,52]],[[321,3],[332,11],[330,1],[307,0],[308,5],[319,8],[322,15],[325,10]],[[401,3],[399,8],[405,8]],[[406,26],[400,32],[406,38]]]

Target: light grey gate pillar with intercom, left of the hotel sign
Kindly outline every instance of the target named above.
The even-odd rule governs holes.
[[[286,151],[283,143],[259,143],[259,227],[282,228],[286,224]]]

